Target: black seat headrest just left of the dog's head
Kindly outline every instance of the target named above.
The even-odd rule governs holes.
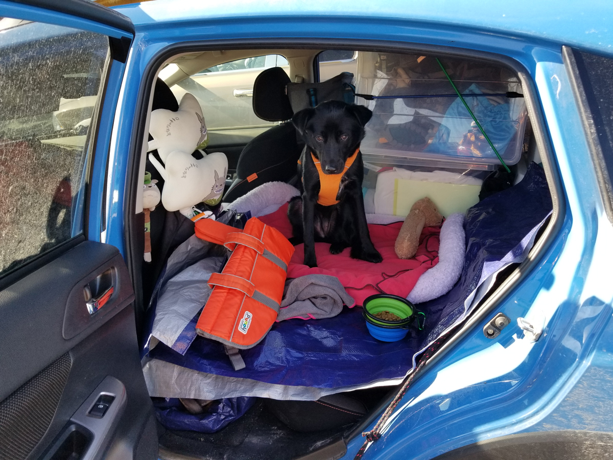
[[[271,67],[257,75],[253,83],[253,112],[266,121],[286,121],[294,111],[285,93],[291,82],[281,67]]]

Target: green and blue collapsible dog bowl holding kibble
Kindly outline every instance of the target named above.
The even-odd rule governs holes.
[[[400,317],[400,320],[383,320],[375,315],[379,312],[390,312]],[[411,302],[392,294],[375,294],[364,301],[362,315],[370,335],[384,342],[395,342],[404,339],[409,332],[409,326],[415,320],[416,309]]]

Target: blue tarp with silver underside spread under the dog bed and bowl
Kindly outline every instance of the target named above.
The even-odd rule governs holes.
[[[524,179],[466,213],[462,276],[444,296],[417,305],[424,331],[384,343],[368,334],[360,310],[323,320],[276,323],[256,347],[242,351],[246,368],[235,371],[223,346],[197,337],[185,355],[165,345],[143,365],[151,396],[219,399],[263,396],[318,399],[347,389],[397,383],[414,356],[465,318],[479,286],[510,263],[525,259],[552,210],[543,169],[531,164]]]

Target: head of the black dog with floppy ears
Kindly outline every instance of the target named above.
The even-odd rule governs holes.
[[[321,161],[324,174],[339,174],[364,139],[364,126],[372,115],[362,105],[327,101],[314,109],[300,110],[292,123]]]

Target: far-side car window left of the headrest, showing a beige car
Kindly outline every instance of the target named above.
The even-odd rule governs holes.
[[[179,102],[185,93],[196,96],[209,130],[272,126],[256,116],[252,105],[253,83],[270,67],[289,72],[283,56],[253,56],[209,67],[170,89]]]

